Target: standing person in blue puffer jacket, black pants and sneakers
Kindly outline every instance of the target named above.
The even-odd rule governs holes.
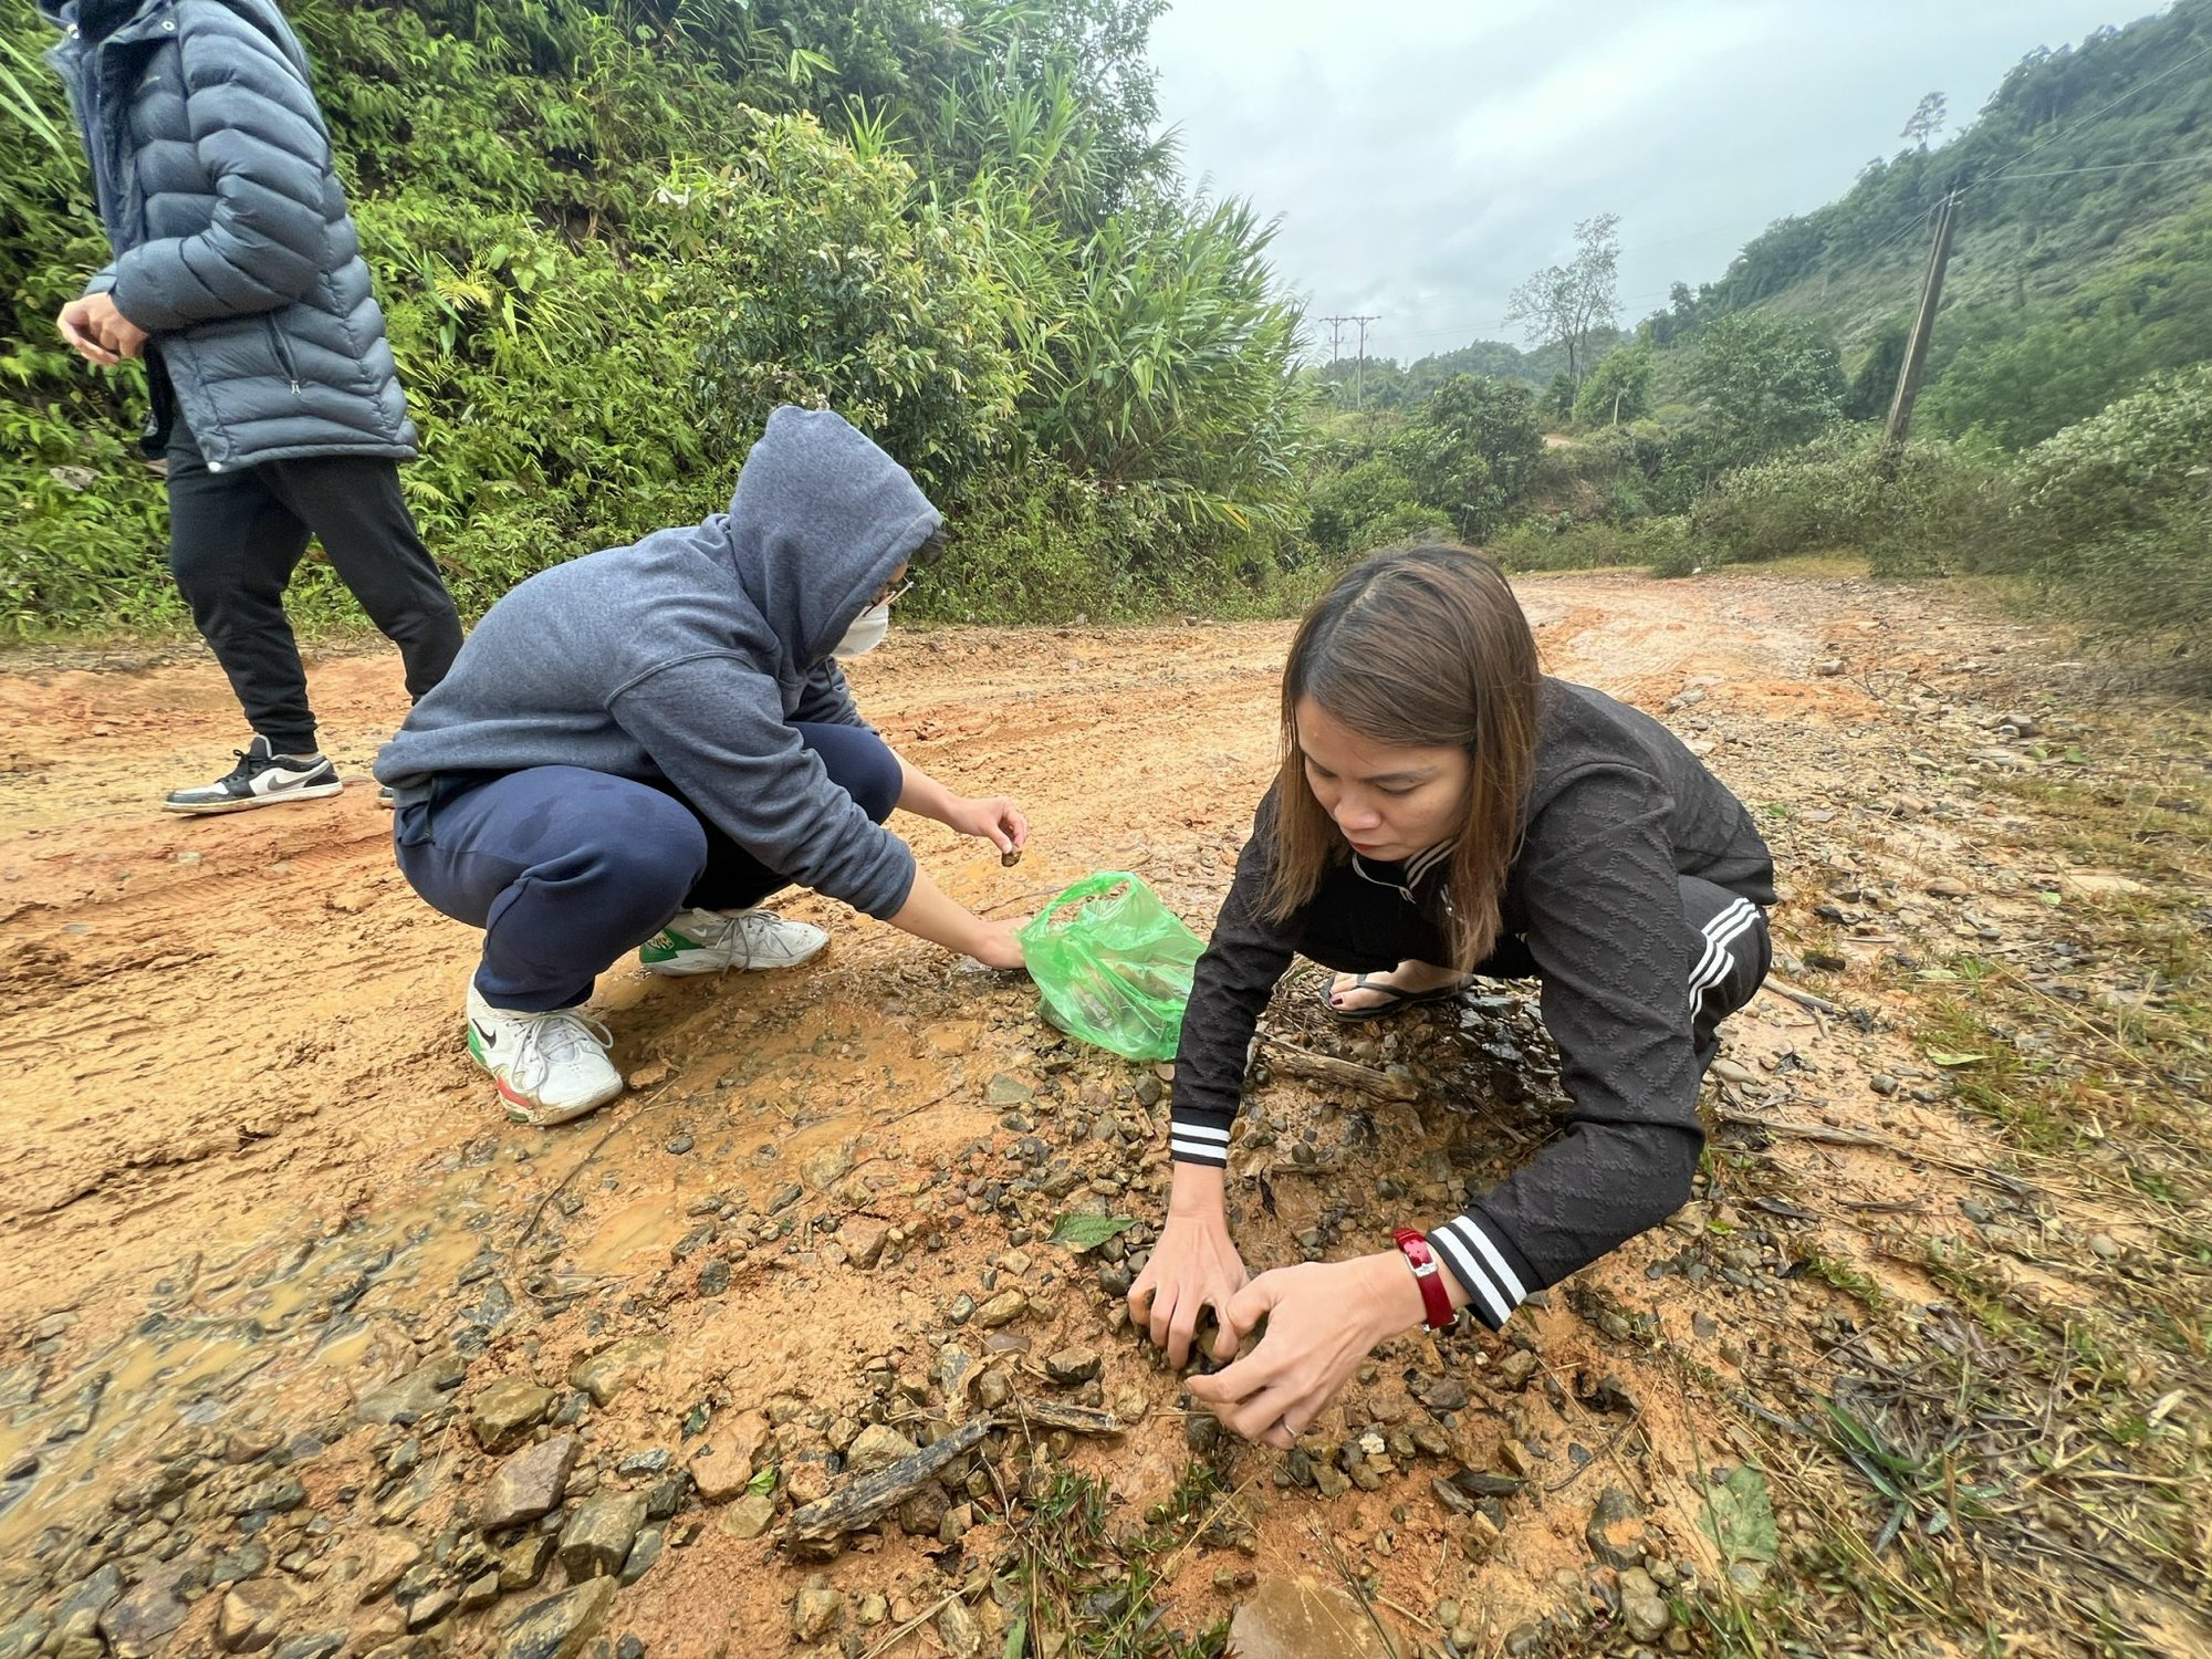
[[[148,453],[192,622],[252,726],[239,765],[170,812],[336,794],[283,593],[321,540],[400,648],[409,697],[460,617],[400,495],[414,458],[385,319],[332,170],[307,55],[270,0],[40,0],[113,263],[62,307],[91,363],[146,356]]]

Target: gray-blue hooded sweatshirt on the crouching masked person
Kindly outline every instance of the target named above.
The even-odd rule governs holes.
[[[792,723],[865,723],[830,650],[940,522],[841,416],[776,409],[728,513],[555,564],[491,606],[376,776],[400,805],[445,772],[666,779],[770,869],[891,916],[914,854]]]

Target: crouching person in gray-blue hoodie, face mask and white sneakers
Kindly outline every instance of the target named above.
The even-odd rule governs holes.
[[[883,639],[942,518],[827,411],[776,409],[730,511],[522,582],[376,759],[400,869],[484,929],[469,1053],[511,1117],[564,1124],[622,1093],[593,980],[805,962],[827,936],[759,902],[841,898],[998,969],[1015,922],[938,889],[891,807],[1029,838],[1004,796],[936,783],[860,719],[841,655]]]

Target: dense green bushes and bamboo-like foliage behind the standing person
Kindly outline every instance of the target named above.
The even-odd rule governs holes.
[[[922,604],[1250,604],[1305,394],[1267,226],[1152,137],[1161,0],[305,0],[465,608],[719,509],[827,403],[953,515]],[[53,312],[104,261],[29,9],[0,24],[0,628],[177,615],[137,369]],[[327,573],[303,604],[343,613]]]

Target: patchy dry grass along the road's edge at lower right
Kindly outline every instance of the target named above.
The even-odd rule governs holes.
[[[2044,1197],[1889,1237],[1927,1307],[1807,1261],[1863,1316],[1820,1378],[1759,1378],[1796,1416],[1732,1425],[1785,1526],[1763,1584],[1694,1608],[1714,1652],[2212,1652],[2212,790],[2177,765],[1991,787],[2022,849],[2137,883],[2042,889],[2077,973],[1960,953],[1885,984]]]

